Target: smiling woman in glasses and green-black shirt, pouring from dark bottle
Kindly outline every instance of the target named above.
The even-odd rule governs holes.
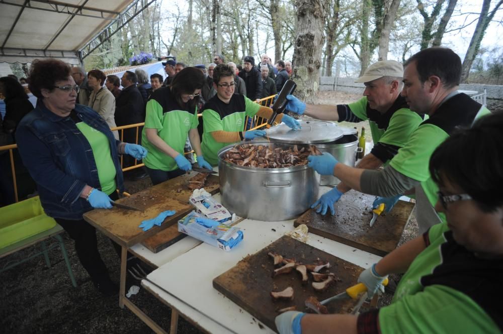
[[[213,87],[217,94],[203,106],[203,154],[212,166],[218,165],[218,151],[242,140],[264,137],[264,130],[245,129],[246,117],[269,119],[273,109],[262,106],[245,95],[234,94],[236,82],[234,70],[229,65],[219,64],[213,71]],[[283,122],[292,129],[300,127],[299,121],[280,114],[276,122]]]

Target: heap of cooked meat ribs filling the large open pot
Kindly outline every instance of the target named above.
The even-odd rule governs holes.
[[[237,144],[222,159],[239,166],[288,168],[307,165],[309,155],[321,155],[314,145]]]

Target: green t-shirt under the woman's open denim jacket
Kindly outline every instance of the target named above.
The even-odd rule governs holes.
[[[76,126],[82,135],[86,137],[93,150],[101,191],[110,195],[117,188],[117,183],[115,182],[116,171],[108,138],[84,122],[78,122]]]

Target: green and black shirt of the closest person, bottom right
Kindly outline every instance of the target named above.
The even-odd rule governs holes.
[[[410,264],[391,305],[379,310],[381,333],[501,333],[489,315],[498,312],[497,303],[476,301],[487,293],[481,283],[497,272],[497,260],[494,266],[474,258],[445,223],[427,233],[430,245]]]

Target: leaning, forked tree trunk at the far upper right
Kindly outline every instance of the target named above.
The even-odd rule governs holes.
[[[492,12],[489,15],[487,15],[487,13],[489,12],[489,7],[491,6],[491,0],[484,0],[482,4],[482,11],[480,13],[477,22],[477,26],[475,27],[475,31],[473,32],[472,39],[468,46],[468,50],[466,51],[465,59],[463,60],[463,65],[461,66],[462,70],[461,82],[465,82],[466,79],[468,78],[468,75],[470,74],[471,65],[473,63],[473,60],[477,56],[478,49],[480,48],[480,43],[484,38],[485,30],[487,29],[487,26],[491,22],[492,18],[494,17],[494,14],[499,9],[502,3],[503,0],[499,0],[499,2],[496,4],[496,7],[494,7]]]

